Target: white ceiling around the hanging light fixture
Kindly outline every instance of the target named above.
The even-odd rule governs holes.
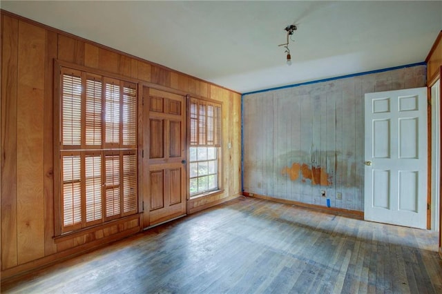
[[[1,9],[238,92],[425,60],[442,1],[1,1]],[[284,28],[296,24],[285,64]]]

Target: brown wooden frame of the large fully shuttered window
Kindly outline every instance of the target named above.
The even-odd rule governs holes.
[[[102,81],[102,108],[100,109],[101,113],[101,139],[102,139],[102,144],[100,148],[95,148],[96,146],[88,146],[86,145],[86,139],[81,139],[81,149],[76,149],[73,148],[72,150],[70,150],[70,148],[66,148],[66,146],[61,146],[61,142],[62,142],[62,127],[61,127],[61,123],[62,123],[62,95],[63,95],[63,91],[64,89],[62,88],[62,79],[64,78],[64,69],[68,69],[68,70],[73,70],[74,72],[84,72],[81,75],[85,75],[85,76],[90,76],[90,77],[101,77],[101,81]],[[55,233],[55,238],[57,237],[61,237],[64,235],[71,235],[71,234],[75,234],[81,231],[85,231],[85,230],[89,230],[90,228],[94,228],[95,226],[104,226],[107,225],[109,222],[113,222],[115,220],[118,219],[124,219],[125,217],[133,217],[134,215],[139,215],[140,213],[142,213],[142,188],[141,188],[141,183],[142,183],[142,146],[140,146],[140,144],[142,144],[142,121],[140,119],[140,117],[142,117],[142,101],[141,101],[141,97],[142,94],[140,94],[140,81],[135,80],[135,79],[131,79],[128,77],[122,77],[120,75],[115,75],[112,74],[110,72],[106,72],[104,70],[97,70],[95,68],[88,68],[85,66],[78,66],[76,64],[73,63],[68,63],[65,61],[59,61],[57,59],[55,59],[54,62],[54,72],[55,75],[53,77],[54,79],[54,95],[53,95],[53,130],[54,130],[54,141],[53,141],[53,150],[54,150],[54,168],[53,168],[53,177],[54,177],[54,222],[55,222],[55,226],[54,226],[54,233]],[[82,76],[81,76],[82,77]],[[115,144],[110,144],[110,143],[106,143],[105,141],[105,137],[104,134],[106,133],[106,119],[104,118],[104,111],[105,111],[105,107],[104,107],[104,103],[105,101],[105,95],[104,92],[106,91],[106,81],[119,81],[120,85],[127,85],[130,84],[131,86],[133,86],[133,89],[135,90],[135,117],[133,119],[131,119],[131,121],[135,122],[135,130],[131,129],[131,132],[135,132],[135,142],[132,142],[133,144],[128,144],[127,146],[123,145],[123,140],[124,140],[124,134],[123,134],[123,128],[122,128],[122,124],[123,122],[123,114],[121,114],[119,116],[119,141],[120,144],[118,146],[115,146]],[[85,86],[86,84],[83,84],[83,80],[81,82],[81,86]],[[120,101],[119,101],[119,109],[122,110],[123,108],[123,101],[122,99],[124,99],[124,89],[126,87],[122,88],[120,90]],[[86,90],[82,90],[81,95],[83,99],[83,96],[85,96],[86,94],[84,94],[83,92]],[[85,137],[86,138],[86,128],[84,127],[84,125],[86,124],[86,100],[85,101],[81,101],[81,132],[84,131],[84,135],[81,135],[81,137]],[[133,109],[133,108],[132,108]],[[131,123],[132,124],[132,123]],[[133,135],[132,135],[133,136]],[[127,141],[126,141],[127,142]],[[65,147],[65,148],[64,148]],[[68,146],[68,147],[73,147],[73,146]],[[113,149],[113,147],[117,147],[116,149]],[[126,147],[126,148],[124,148]],[[124,195],[120,195],[120,199],[121,199],[121,205],[120,206],[120,210],[119,210],[119,215],[115,216],[115,217],[106,217],[105,215],[105,211],[104,209],[102,209],[102,217],[101,219],[92,221],[92,222],[83,222],[83,220],[81,221],[81,225],[78,226],[73,226],[72,229],[67,229],[64,226],[64,218],[63,218],[63,195],[62,195],[62,190],[63,190],[63,176],[62,176],[62,172],[63,172],[63,167],[61,166],[62,164],[62,159],[61,159],[61,154],[64,153],[64,155],[68,155],[68,153],[75,153],[75,154],[81,154],[81,153],[85,153],[85,155],[83,155],[83,157],[81,158],[86,158],[88,156],[91,156],[92,154],[100,156],[100,160],[101,161],[105,161],[106,160],[106,155],[108,155],[109,153],[118,153],[119,156],[121,157],[120,162],[123,163],[123,161],[125,160],[124,157],[126,157],[126,155],[128,155],[129,153],[131,155],[135,155],[135,200],[133,200],[132,206],[131,208],[133,208],[133,210],[131,210],[130,212],[124,212]],[[81,159],[81,164],[84,164],[86,159]],[[126,161],[128,160],[128,157],[126,157]],[[102,165],[102,173],[100,174],[100,177],[102,179],[104,179],[106,177],[106,173],[104,170],[105,167],[105,162],[101,162]],[[133,163],[131,163],[131,168],[133,168]],[[83,172],[81,172],[83,173]],[[84,172],[86,173],[86,172]],[[119,175],[121,177],[124,177],[124,170],[123,167],[121,167],[120,169],[120,173]],[[86,181],[86,176],[83,178],[84,181]],[[133,181],[132,179],[128,179],[130,181]],[[124,179],[122,179],[120,181],[121,183],[124,182]],[[84,185],[84,184],[82,184]],[[123,191],[124,186],[121,187],[121,191]],[[106,195],[104,194],[106,193],[106,189],[102,188],[102,194],[101,194],[101,198],[102,198],[102,202],[106,201]],[[83,202],[84,198],[86,197],[86,195],[81,195],[81,201]],[[127,198],[126,198],[127,199]],[[86,201],[86,200],[85,200]],[[134,203],[135,201],[135,203]],[[106,203],[102,203],[102,207],[106,206]],[[126,206],[127,207],[127,206]],[[127,208],[128,209],[128,208]],[[86,206],[84,203],[81,204],[81,219],[86,219]]]

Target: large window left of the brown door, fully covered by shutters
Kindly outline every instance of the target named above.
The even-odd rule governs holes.
[[[61,68],[60,233],[137,213],[136,86]]]

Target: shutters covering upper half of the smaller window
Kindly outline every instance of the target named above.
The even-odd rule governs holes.
[[[221,146],[221,104],[190,100],[191,146]]]

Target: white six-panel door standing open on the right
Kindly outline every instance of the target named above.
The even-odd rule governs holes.
[[[365,94],[365,219],[427,227],[427,88]]]

